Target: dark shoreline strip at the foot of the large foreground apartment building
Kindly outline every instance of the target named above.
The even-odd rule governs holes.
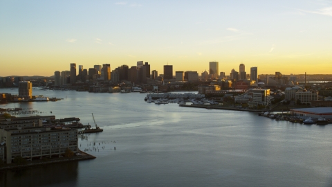
[[[84,160],[91,160],[95,159],[97,157],[88,154],[86,152],[82,152],[79,150],[80,154],[79,156],[74,156],[71,158],[66,158],[66,157],[61,157],[61,158],[53,158],[48,161],[42,161],[42,160],[33,160],[33,161],[28,161],[26,164],[16,164],[16,163],[10,163],[9,166],[7,164],[4,164],[3,166],[0,166],[0,171],[4,170],[17,170],[17,169],[23,169],[23,168],[31,168],[35,166],[43,166],[43,165],[50,165],[54,163],[64,163],[64,162],[69,162],[69,161],[84,161]]]

